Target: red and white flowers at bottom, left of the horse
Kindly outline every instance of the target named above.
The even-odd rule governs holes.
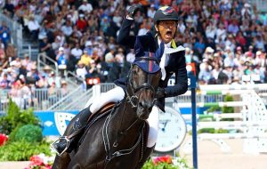
[[[25,169],[52,169],[54,157],[45,157],[44,154],[30,157],[30,163]]]

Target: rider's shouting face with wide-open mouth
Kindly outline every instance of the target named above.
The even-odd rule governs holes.
[[[161,40],[167,44],[174,38],[177,22],[174,20],[159,21],[155,28],[158,31]]]

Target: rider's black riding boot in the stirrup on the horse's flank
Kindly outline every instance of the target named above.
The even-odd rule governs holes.
[[[91,115],[92,112],[90,111],[90,106],[83,109],[69,122],[63,136],[53,142],[52,148],[55,149],[59,156],[61,156],[65,151],[71,152],[72,149],[74,149],[75,143],[80,139],[82,133],[84,133],[85,125]]]

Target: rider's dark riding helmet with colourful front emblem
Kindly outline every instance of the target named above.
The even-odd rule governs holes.
[[[163,6],[158,9],[154,15],[154,24],[160,20],[176,20],[178,21],[178,13],[171,6]]]

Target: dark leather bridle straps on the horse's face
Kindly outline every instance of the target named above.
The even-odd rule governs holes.
[[[158,63],[158,59],[154,57],[139,57],[135,60],[144,60],[144,61],[156,61]],[[142,85],[138,86],[137,88],[134,88],[133,84],[130,82],[132,80],[131,75],[133,72],[134,65],[132,65],[129,74],[127,76],[127,84],[126,84],[126,101],[130,102],[132,105],[132,108],[137,108],[137,104],[139,102],[139,96],[144,89],[149,89],[153,95],[155,96],[157,93],[157,88],[155,89],[152,84],[150,84],[150,81],[143,83]],[[156,72],[157,73],[157,72]],[[150,73],[149,73],[150,76]],[[148,78],[149,79],[149,78]],[[155,103],[156,99],[154,99],[153,104]]]

